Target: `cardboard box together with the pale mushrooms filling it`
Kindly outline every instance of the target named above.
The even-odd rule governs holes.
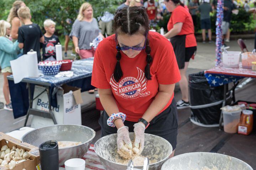
[[[0,132],[0,170],[35,170],[40,163],[38,147]]]

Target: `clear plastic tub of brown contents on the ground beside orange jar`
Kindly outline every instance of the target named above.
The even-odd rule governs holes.
[[[238,124],[240,122],[241,109],[238,111],[223,111],[224,131],[235,134],[238,131]]]

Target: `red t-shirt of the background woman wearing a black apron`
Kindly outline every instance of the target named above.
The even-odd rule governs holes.
[[[177,6],[169,19],[167,24],[168,31],[173,28],[173,25],[182,22],[183,26],[181,32],[178,35],[187,35],[186,36],[186,47],[197,46],[197,40],[194,35],[194,24],[190,13],[183,6]]]

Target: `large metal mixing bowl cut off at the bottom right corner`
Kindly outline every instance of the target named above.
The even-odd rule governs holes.
[[[215,166],[215,167],[214,167]],[[192,152],[177,155],[168,159],[162,166],[162,170],[253,170],[244,161],[209,152]]]

